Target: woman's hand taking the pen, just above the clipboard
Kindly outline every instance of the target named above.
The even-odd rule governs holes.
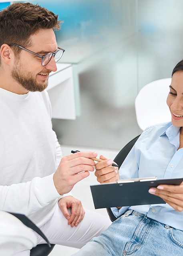
[[[98,162],[95,165],[95,176],[97,176],[97,181],[100,183],[107,183],[115,182],[119,179],[118,167],[112,166],[112,163],[114,163],[113,160],[109,160],[105,158],[105,156],[100,156],[100,158],[104,161]]]

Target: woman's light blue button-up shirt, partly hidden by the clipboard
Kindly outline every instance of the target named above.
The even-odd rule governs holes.
[[[179,148],[180,128],[171,122],[148,127],[139,137],[119,169],[120,179],[138,177],[183,177],[183,148]],[[123,196],[123,195],[122,195]],[[183,211],[166,204],[111,208],[116,217],[127,209],[146,214],[151,219],[183,230]]]

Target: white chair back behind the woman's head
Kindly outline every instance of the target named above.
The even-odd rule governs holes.
[[[171,78],[164,78],[145,85],[135,99],[137,124],[141,130],[147,126],[171,121],[166,104]]]

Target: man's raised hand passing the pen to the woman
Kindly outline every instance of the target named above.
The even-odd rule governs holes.
[[[74,185],[94,171],[95,162],[91,159],[97,152],[77,152],[62,157],[53,175],[54,185],[60,195],[68,193]]]

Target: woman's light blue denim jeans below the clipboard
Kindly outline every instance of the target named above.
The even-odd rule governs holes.
[[[129,210],[74,256],[181,256],[183,231]]]

